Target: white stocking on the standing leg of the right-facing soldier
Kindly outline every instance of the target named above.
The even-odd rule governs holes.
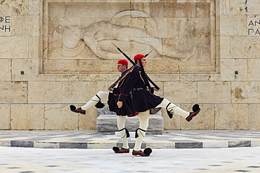
[[[136,144],[134,145],[135,151],[141,150],[143,138],[145,137],[145,132],[146,132],[146,130],[148,128],[148,124],[149,124],[149,115],[150,115],[150,111],[141,112],[138,115],[139,128],[137,130],[138,137],[136,138]]]

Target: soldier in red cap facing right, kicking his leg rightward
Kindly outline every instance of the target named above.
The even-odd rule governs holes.
[[[143,69],[146,64],[145,56],[138,54],[134,57],[134,60],[136,67],[134,67],[124,82],[117,105],[121,108],[129,103],[129,93],[131,92],[131,109],[133,111],[133,115],[138,114],[140,123],[138,129],[136,130],[136,143],[132,155],[149,156],[150,153],[152,153],[152,150],[150,148],[145,148],[144,151],[141,151],[141,144],[148,128],[150,109],[162,107],[167,110],[170,118],[172,118],[175,113],[183,118],[186,118],[189,122],[197,115],[197,113],[200,112],[200,106],[195,104],[193,106],[193,112],[187,112],[175,104],[172,104],[169,100],[153,95],[150,92],[148,76],[145,74]],[[154,88],[153,90],[157,89]]]

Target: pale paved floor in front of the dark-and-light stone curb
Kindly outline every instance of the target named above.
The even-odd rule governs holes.
[[[260,147],[153,149],[149,157],[112,149],[0,147],[0,172],[260,172]]]

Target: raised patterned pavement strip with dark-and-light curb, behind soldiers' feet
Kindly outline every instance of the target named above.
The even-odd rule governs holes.
[[[134,147],[134,132],[129,146]],[[122,146],[119,132],[98,134],[96,130],[0,130],[0,146],[31,148],[112,148]],[[260,146],[260,130],[165,130],[147,134],[143,148],[228,148]]]

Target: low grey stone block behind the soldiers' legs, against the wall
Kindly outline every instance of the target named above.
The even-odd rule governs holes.
[[[125,127],[129,132],[135,132],[139,127],[138,116],[126,117]],[[111,114],[98,116],[97,130],[99,134],[115,134],[115,132],[118,132],[117,116]],[[146,134],[162,134],[162,130],[164,130],[164,118],[162,118],[161,114],[150,115]]]

